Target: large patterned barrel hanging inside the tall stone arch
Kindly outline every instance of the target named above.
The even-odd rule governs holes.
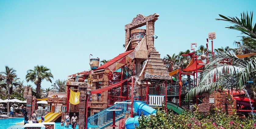
[[[140,41],[145,36],[146,30],[145,29],[133,29],[131,30],[131,45],[132,49],[134,49]]]

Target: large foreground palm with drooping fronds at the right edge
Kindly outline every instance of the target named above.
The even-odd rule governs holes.
[[[251,12],[251,15],[248,15],[248,12],[247,14],[243,12],[241,13],[241,18],[219,16],[223,19],[216,20],[228,21],[235,24],[226,28],[239,30],[242,34],[247,35],[247,37],[242,38],[243,44],[235,42],[236,45],[244,47],[247,52],[256,52],[256,24],[252,23],[253,12]],[[235,87],[236,89],[242,89],[248,85],[248,81],[256,81],[256,58],[243,60],[237,58],[235,53],[227,53],[225,49],[223,50],[224,52],[221,49],[216,50],[218,54],[213,57],[214,60],[211,63],[205,66],[204,72],[200,75],[198,86],[187,93],[187,98],[201,93],[212,92],[219,88]],[[239,53],[242,53],[241,48]],[[232,61],[232,64],[219,63],[219,61],[224,59]],[[216,81],[211,82],[209,80],[210,78],[215,78]]]

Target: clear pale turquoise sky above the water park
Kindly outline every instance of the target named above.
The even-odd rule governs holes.
[[[51,69],[53,82],[66,80],[90,69],[89,54],[102,60],[123,53],[124,25],[137,14],[160,15],[155,22],[155,48],[162,58],[190,49],[192,42],[205,45],[208,32],[216,32],[214,48],[234,48],[240,32],[226,29],[232,24],[215,19],[219,14],[239,16],[255,10],[255,0],[1,0],[0,71],[7,65],[25,80],[27,70],[44,65]],[[51,83],[44,80],[41,85],[47,88]]]

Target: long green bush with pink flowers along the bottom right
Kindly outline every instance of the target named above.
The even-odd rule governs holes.
[[[238,115],[227,115],[221,110],[213,109],[208,114],[184,111],[173,114],[171,110],[158,108],[156,115],[139,119],[136,129],[256,129],[251,116],[239,118]]]

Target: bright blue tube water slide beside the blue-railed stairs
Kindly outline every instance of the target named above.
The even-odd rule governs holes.
[[[145,104],[143,102],[134,102],[133,103],[134,111],[141,115],[143,113],[144,115],[151,115],[156,114],[156,110],[152,107],[149,107],[148,104]],[[125,122],[126,129],[135,129],[136,126],[139,126],[139,116],[128,118]]]

